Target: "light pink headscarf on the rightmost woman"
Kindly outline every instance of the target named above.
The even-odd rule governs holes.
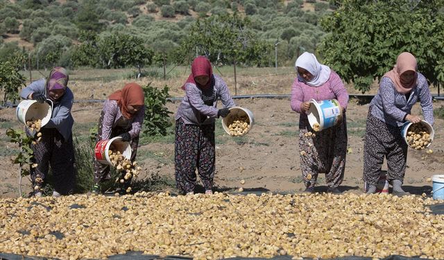
[[[418,64],[415,56],[413,56],[411,53],[404,52],[398,56],[393,69],[385,73],[383,77],[388,77],[391,79],[391,81],[393,81],[396,91],[402,94],[407,94],[411,92],[411,88],[415,87],[416,85],[416,79],[418,78],[416,69],[418,69]],[[402,80],[400,76],[405,71],[415,71],[415,77],[407,82]]]

